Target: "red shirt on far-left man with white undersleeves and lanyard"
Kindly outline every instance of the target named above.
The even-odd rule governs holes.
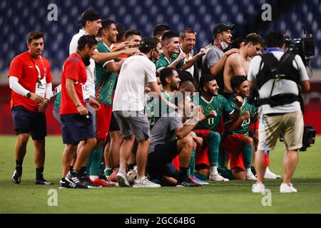
[[[14,76],[18,78],[19,84],[22,87],[29,90],[31,93],[34,93],[36,90],[36,83],[39,79],[39,73],[36,67],[40,70],[40,79],[42,80],[46,74],[46,83],[51,83],[52,76],[49,61],[40,56],[34,59],[29,51],[21,53],[11,61],[8,77]],[[12,109],[14,106],[18,105],[22,105],[32,112],[38,112],[39,105],[36,102],[11,90],[10,108]]]

